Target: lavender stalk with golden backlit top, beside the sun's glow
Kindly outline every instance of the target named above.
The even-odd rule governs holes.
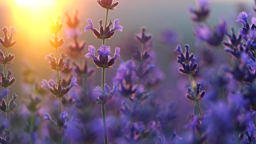
[[[65,120],[67,119],[67,112],[62,111],[61,106],[61,98],[68,92],[73,86],[78,86],[76,84],[77,79],[73,77],[70,81],[69,86],[63,88],[62,86],[62,79],[60,77],[59,71],[66,68],[64,59],[67,57],[65,53],[61,53],[61,57],[58,57],[58,48],[63,46],[64,39],[58,38],[58,33],[61,32],[62,24],[59,23],[60,17],[54,22],[51,21],[50,31],[51,33],[54,33],[53,39],[49,39],[49,44],[56,49],[56,58],[54,57],[54,54],[51,53],[50,55],[47,55],[45,59],[49,60],[49,65],[52,70],[56,70],[57,74],[57,81],[46,81],[43,79],[42,81],[42,87],[47,88],[56,98],[58,98],[58,115],[59,118],[57,119],[57,122],[53,121],[48,113],[44,114],[44,120],[48,120],[51,123],[55,124],[59,128],[59,144],[63,143],[63,130],[65,125]]]

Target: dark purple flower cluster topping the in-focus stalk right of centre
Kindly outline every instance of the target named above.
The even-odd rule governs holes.
[[[194,58],[194,54],[189,54],[189,45],[185,45],[186,51],[182,53],[182,49],[180,45],[177,46],[175,51],[179,53],[177,56],[177,62],[182,65],[179,67],[179,72],[183,74],[194,74],[197,70],[198,64],[195,63],[196,58]]]

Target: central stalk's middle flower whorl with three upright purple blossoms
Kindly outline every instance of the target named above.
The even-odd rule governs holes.
[[[88,51],[89,53],[85,55],[86,58],[92,57],[93,63],[95,63],[97,67],[111,68],[115,63],[116,58],[119,58],[119,60],[122,60],[120,56],[119,47],[116,47],[115,55],[112,58],[110,57],[109,46],[104,46],[104,45],[100,46],[100,49],[98,49],[98,55],[99,55],[98,57],[95,56],[95,48],[92,45],[88,46]]]

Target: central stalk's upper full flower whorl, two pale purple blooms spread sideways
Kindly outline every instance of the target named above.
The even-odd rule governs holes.
[[[100,24],[99,31],[93,27],[93,22],[91,21],[91,19],[86,19],[86,21],[89,23],[89,25],[86,26],[86,28],[84,29],[84,32],[87,32],[88,30],[92,30],[93,34],[95,35],[95,37],[97,39],[110,39],[114,35],[116,30],[118,30],[120,32],[123,31],[123,27],[119,25],[120,19],[116,19],[114,21],[114,27],[112,29],[110,29],[110,26],[113,24],[112,21],[109,21],[109,24],[106,26],[106,28],[104,28],[102,26],[102,20],[100,20],[99,21],[99,24]]]

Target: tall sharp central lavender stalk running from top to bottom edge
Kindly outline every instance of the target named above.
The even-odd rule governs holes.
[[[109,21],[109,24],[107,25],[109,10],[115,9],[115,7],[119,4],[119,2],[113,2],[112,0],[97,0],[97,2],[100,5],[100,7],[106,9],[104,27],[102,26],[102,20],[100,20],[99,21],[100,29],[98,31],[93,27],[93,23],[92,23],[91,19],[87,19],[86,21],[89,23],[89,25],[86,26],[84,31],[86,32],[88,30],[92,30],[93,34],[95,35],[95,37],[97,39],[102,39],[102,46],[98,50],[98,54],[99,54],[98,57],[94,56],[95,48],[93,46],[88,46],[88,50],[90,52],[86,54],[86,57],[92,57],[93,62],[97,65],[97,67],[102,67],[102,80],[101,80],[101,89],[100,89],[101,94],[98,96],[96,102],[101,104],[102,121],[103,121],[103,128],[104,128],[104,143],[108,144],[105,104],[112,98],[112,96],[115,92],[116,83],[114,82],[114,89],[112,92],[109,93],[108,92],[109,90],[107,90],[105,88],[107,86],[107,84],[105,84],[105,70],[106,70],[106,68],[110,68],[110,67],[112,67],[112,65],[114,65],[116,58],[119,58],[119,60],[122,60],[122,59],[121,59],[121,56],[119,55],[119,53],[120,53],[119,47],[116,47],[116,53],[115,53],[114,57],[112,57],[110,59],[110,56],[109,56],[110,55],[110,47],[106,46],[105,39],[110,39],[114,35],[115,30],[122,31],[123,27],[119,25],[120,19],[116,19],[114,21],[114,28],[112,28],[112,29],[110,29],[110,26],[113,24],[113,22],[111,20]]]

